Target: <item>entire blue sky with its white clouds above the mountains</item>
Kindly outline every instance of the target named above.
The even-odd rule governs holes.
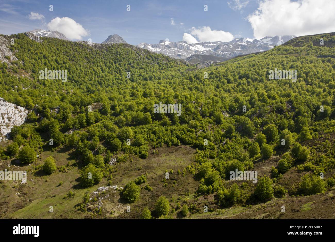
[[[302,36],[335,32],[334,23],[335,0],[0,0],[0,34],[41,28],[94,43]]]

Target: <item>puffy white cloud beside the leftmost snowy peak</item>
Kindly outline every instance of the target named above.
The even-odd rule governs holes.
[[[89,34],[81,24],[69,17],[54,18],[47,24],[47,26],[52,31],[57,30],[58,32],[61,32],[70,40],[81,40],[84,36]]]

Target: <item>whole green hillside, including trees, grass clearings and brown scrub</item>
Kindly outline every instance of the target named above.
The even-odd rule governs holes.
[[[29,114],[1,142],[0,170],[27,182],[0,181],[0,217],[332,218],[333,38],[199,70],[128,44],[1,36],[17,60],[0,64],[0,97]],[[275,69],[296,82],[269,79]],[[181,115],[154,112],[160,102]],[[229,179],[235,169],[258,181]]]

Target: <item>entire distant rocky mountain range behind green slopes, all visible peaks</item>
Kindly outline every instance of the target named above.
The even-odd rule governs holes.
[[[50,31],[43,29],[35,29],[28,33],[38,37],[53,37],[63,40],[68,40],[65,35],[58,31]],[[200,42],[188,44],[186,41],[170,42],[161,40],[158,44],[140,43],[137,46],[142,49],[147,49],[151,52],[167,55],[176,59],[185,59],[191,63],[208,63],[222,62],[233,57],[255,52],[262,52],[272,49],[274,46],[281,45],[296,36],[265,36],[257,40],[246,38],[236,38],[229,42]],[[127,42],[117,34],[110,35],[102,42],[102,44],[123,43]]]

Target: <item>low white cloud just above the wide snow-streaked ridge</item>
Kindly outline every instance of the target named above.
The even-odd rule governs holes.
[[[229,32],[224,32],[222,30],[212,30],[209,26],[202,26],[198,28],[192,27],[190,29],[190,32],[191,35],[187,33],[184,34],[183,40],[186,40],[187,38],[190,41],[194,41],[196,37],[199,40],[199,42],[207,42],[207,41],[228,42],[234,39],[233,35],[230,34]],[[193,39],[191,39],[191,37],[193,37]]]

